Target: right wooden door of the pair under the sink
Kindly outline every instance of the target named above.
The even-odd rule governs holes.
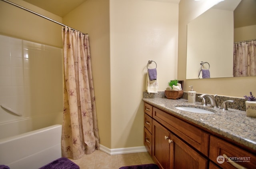
[[[171,133],[170,169],[207,169],[208,160]]]

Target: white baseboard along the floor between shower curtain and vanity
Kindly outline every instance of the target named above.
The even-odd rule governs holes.
[[[117,155],[117,154],[127,154],[127,153],[140,153],[146,152],[146,148],[144,146],[140,147],[128,147],[128,148],[118,148],[118,149],[109,149],[104,145],[100,145],[100,150],[108,153],[109,155]]]

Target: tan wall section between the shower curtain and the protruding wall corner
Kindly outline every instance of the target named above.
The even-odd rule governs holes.
[[[100,144],[111,147],[109,1],[87,0],[63,23],[89,34]]]

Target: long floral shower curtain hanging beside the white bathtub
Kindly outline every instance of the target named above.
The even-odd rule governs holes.
[[[88,35],[62,28],[64,112],[62,155],[79,159],[99,149]]]

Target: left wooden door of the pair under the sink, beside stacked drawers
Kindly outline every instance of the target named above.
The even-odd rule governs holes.
[[[170,131],[153,120],[152,157],[160,169],[170,168]]]

